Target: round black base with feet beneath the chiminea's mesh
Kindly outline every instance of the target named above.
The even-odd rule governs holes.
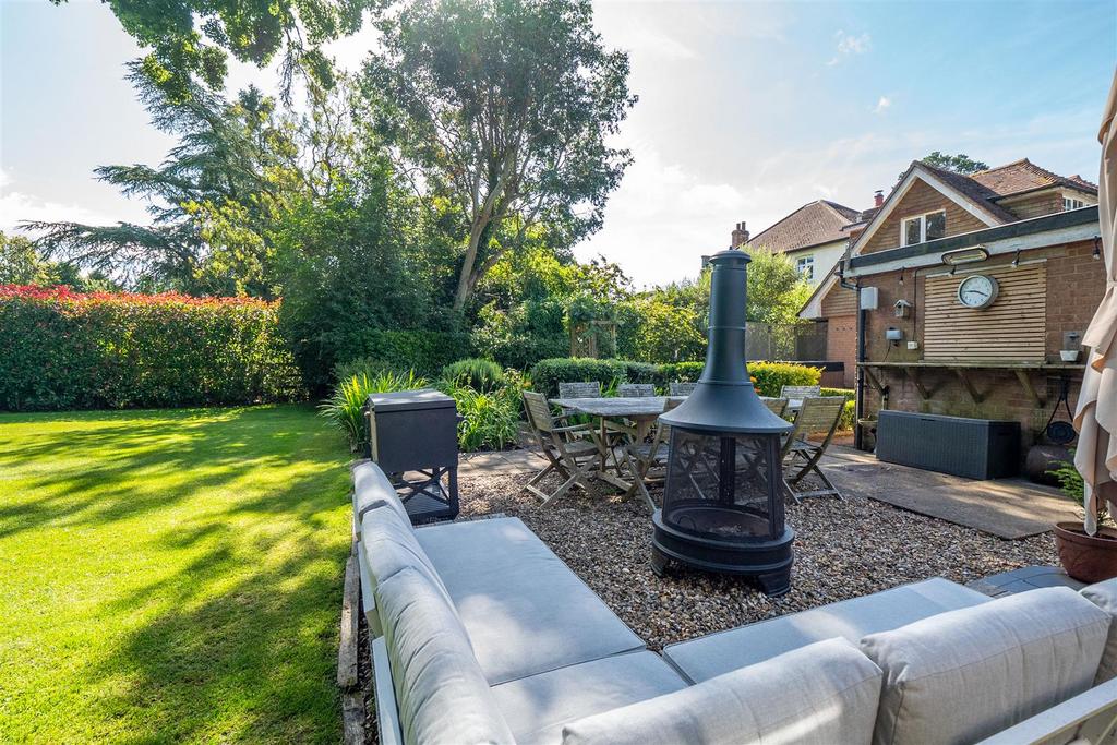
[[[783,535],[774,539],[718,541],[665,525],[659,509],[651,522],[655,526],[651,569],[657,575],[662,575],[675,560],[706,572],[755,577],[770,598],[791,590],[791,565],[794,561],[791,543],[795,532],[790,527],[784,527]]]

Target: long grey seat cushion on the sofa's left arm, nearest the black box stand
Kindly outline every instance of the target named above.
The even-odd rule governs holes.
[[[491,685],[645,646],[517,518],[424,526],[416,537]]]

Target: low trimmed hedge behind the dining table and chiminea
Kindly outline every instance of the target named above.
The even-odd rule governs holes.
[[[701,362],[672,362],[650,364],[628,360],[594,360],[592,357],[554,357],[541,360],[532,367],[532,384],[553,398],[558,395],[558,383],[598,381],[608,386],[613,381],[620,383],[652,383],[661,391],[672,381],[697,381],[701,375]],[[748,372],[756,379],[761,395],[779,395],[784,385],[818,385],[822,371],[818,367],[790,364],[786,362],[750,362]]]

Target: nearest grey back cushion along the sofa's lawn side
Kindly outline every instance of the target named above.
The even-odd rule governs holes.
[[[452,608],[413,567],[376,585],[405,743],[513,743]]]

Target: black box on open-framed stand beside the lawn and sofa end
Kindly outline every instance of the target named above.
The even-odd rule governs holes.
[[[458,412],[454,399],[431,389],[373,393],[365,403],[365,455],[392,479],[411,522],[457,517]]]

